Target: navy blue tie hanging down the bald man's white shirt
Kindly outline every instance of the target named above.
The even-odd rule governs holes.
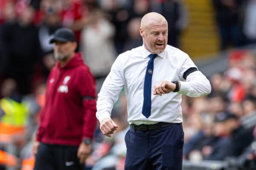
[[[144,80],[144,101],[142,107],[142,114],[148,118],[151,114],[151,84],[152,84],[152,75],[154,70],[154,59],[157,57],[157,54],[150,54],[150,60],[148,61],[148,66],[146,70],[145,80]]]

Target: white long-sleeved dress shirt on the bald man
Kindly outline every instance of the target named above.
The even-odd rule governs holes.
[[[142,45],[120,54],[111,67],[111,71],[98,94],[96,116],[99,122],[111,117],[114,103],[119,92],[125,87],[129,124],[154,124],[157,122],[182,122],[181,95],[198,97],[211,91],[209,80],[201,73],[194,71],[183,78],[189,68],[197,68],[194,62],[183,51],[166,46],[166,49],[154,59],[154,71],[151,85],[151,115],[142,114],[143,88],[145,72],[151,54]],[[162,96],[153,95],[153,86],[160,81],[179,81],[180,91]]]

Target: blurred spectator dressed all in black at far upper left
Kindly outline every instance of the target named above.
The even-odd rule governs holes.
[[[21,94],[31,91],[34,65],[41,59],[38,28],[33,25],[34,16],[34,8],[27,6],[16,23],[1,28],[0,39],[5,42],[8,57],[6,77],[15,79]]]

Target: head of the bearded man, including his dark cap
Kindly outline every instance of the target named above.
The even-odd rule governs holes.
[[[69,28],[57,29],[50,43],[55,43],[54,57],[60,61],[67,61],[73,57],[77,47],[75,34]]]

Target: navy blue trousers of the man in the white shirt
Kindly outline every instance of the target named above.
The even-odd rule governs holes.
[[[125,135],[125,170],[182,170],[184,133],[178,123]]]

